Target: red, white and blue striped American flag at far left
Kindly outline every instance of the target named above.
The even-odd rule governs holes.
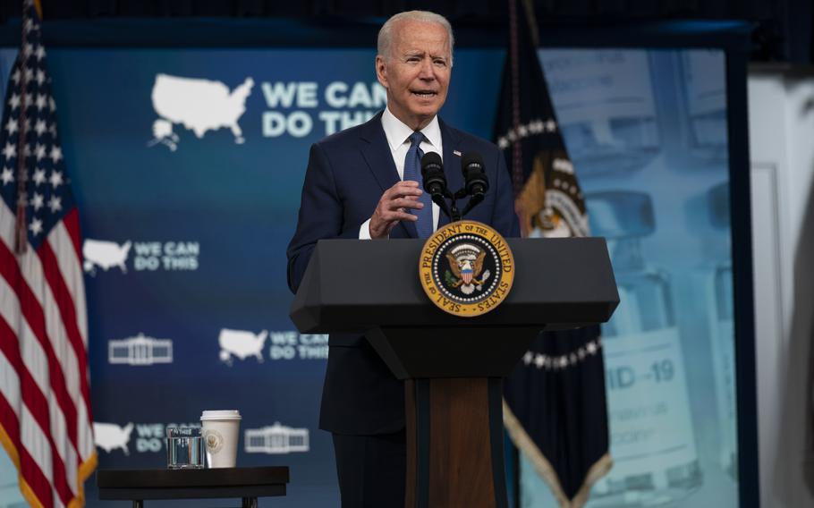
[[[0,441],[31,506],[81,506],[97,458],[79,214],[40,39],[28,0],[0,126]]]

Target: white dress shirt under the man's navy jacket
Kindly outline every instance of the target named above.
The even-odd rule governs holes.
[[[390,148],[390,155],[393,156],[395,170],[399,174],[399,178],[404,180],[404,159],[407,157],[407,150],[410,149],[410,136],[412,129],[404,124],[401,120],[396,118],[394,114],[390,113],[390,108],[386,107],[385,112],[382,114],[382,128],[385,130],[387,138],[387,145]],[[441,127],[438,126],[438,116],[434,116],[432,121],[426,127],[421,129],[424,134],[424,140],[421,141],[419,148],[426,154],[427,152],[436,152],[441,159],[444,159],[444,147],[441,145]],[[438,227],[438,216],[441,213],[441,208],[435,203],[432,204],[432,230],[435,231]],[[360,240],[370,240],[370,219],[361,224],[359,228]]]

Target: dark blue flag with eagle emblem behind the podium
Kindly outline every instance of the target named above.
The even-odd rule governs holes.
[[[512,172],[521,233],[586,236],[585,200],[538,60],[533,8],[511,0],[509,10],[495,135]],[[506,430],[559,504],[585,504],[612,465],[599,327],[539,334],[506,379],[504,402]]]

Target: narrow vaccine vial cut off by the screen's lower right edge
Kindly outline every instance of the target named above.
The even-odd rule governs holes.
[[[703,276],[703,290],[710,309],[709,340],[718,421],[718,462],[733,479],[738,478],[738,428],[735,391],[732,259],[730,258],[729,186],[716,185],[708,192],[709,221],[717,233],[720,258]]]

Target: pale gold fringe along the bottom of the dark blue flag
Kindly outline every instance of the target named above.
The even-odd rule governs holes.
[[[557,476],[555,469],[551,466],[551,462],[547,460],[546,456],[540,452],[538,446],[534,444],[534,441],[526,432],[525,428],[523,428],[520,420],[514,416],[514,413],[505,400],[503,401],[503,423],[514,445],[517,446],[534,465],[534,469],[537,470],[539,476],[546,480],[548,487],[551,488],[551,492],[555,495],[561,508],[581,508],[584,506],[588,502],[590,487],[593,487],[597,480],[605,476],[607,471],[614,465],[610,453],[602,455],[602,457],[589,468],[580,490],[573,496],[573,499],[569,499],[563,491],[560,478]]]

